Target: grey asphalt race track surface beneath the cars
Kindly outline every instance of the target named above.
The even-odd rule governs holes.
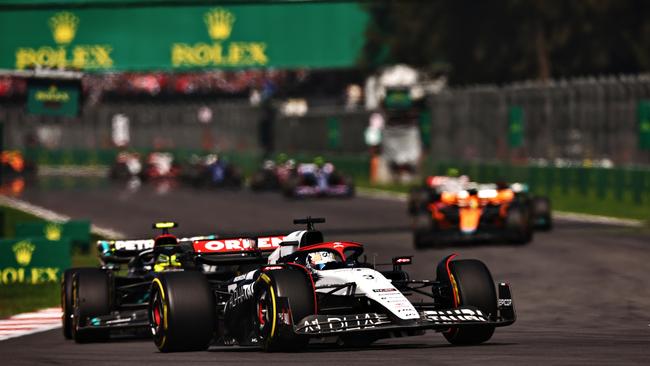
[[[40,191],[23,199],[130,236],[150,236],[154,220],[173,219],[179,234],[289,231],[291,220],[324,216],[327,239],[364,243],[377,262],[415,253],[412,278],[432,278],[446,254],[478,258],[513,288],[518,321],[480,346],[450,346],[437,333],[381,340],[368,348],[316,345],[299,353],[254,348],[161,354],[149,340],[78,345],[53,330],[0,342],[0,364],[64,365],[648,365],[650,364],[650,233],[643,229],[557,222],[526,246],[463,245],[415,252],[403,203],[287,201],[277,194],[151,186]]]

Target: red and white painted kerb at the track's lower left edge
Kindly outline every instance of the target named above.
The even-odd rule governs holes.
[[[0,319],[0,341],[61,327],[61,309],[49,308]]]

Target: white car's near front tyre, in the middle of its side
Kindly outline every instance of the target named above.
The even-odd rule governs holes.
[[[313,281],[305,269],[287,266],[262,273],[255,282],[253,321],[259,343],[267,352],[298,351],[309,338],[297,335],[286,319],[299,322],[316,314]]]

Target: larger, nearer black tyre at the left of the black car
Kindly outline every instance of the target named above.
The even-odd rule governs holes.
[[[108,330],[92,328],[89,319],[106,315],[111,311],[112,291],[109,273],[97,268],[75,271],[72,273],[71,292],[72,338],[77,343],[106,341],[109,337]]]

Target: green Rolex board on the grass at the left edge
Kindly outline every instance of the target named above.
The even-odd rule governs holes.
[[[70,267],[70,242],[46,239],[0,240],[0,286],[37,285],[61,280]]]

